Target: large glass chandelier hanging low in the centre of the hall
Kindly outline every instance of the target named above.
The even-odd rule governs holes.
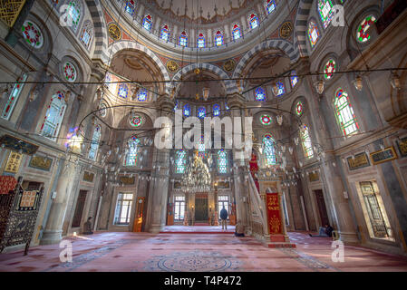
[[[206,192],[212,189],[211,183],[208,166],[197,151],[182,177],[182,189],[186,192]]]

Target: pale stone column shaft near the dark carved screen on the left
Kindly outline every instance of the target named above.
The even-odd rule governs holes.
[[[46,221],[41,245],[52,245],[59,243],[63,236],[63,220],[68,206],[69,195],[73,188],[73,176],[75,174],[76,160],[65,160],[63,170],[56,186],[56,198],[53,199],[50,213]]]

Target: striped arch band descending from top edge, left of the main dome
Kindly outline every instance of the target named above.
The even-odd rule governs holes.
[[[92,22],[94,27],[94,59],[101,59],[103,63],[107,63],[108,56],[106,50],[108,47],[108,34],[106,24],[104,23],[102,5],[99,0],[85,0],[88,6],[89,12],[92,16]]]

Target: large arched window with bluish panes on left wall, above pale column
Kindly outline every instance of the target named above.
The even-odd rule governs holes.
[[[56,140],[65,115],[66,103],[63,92],[56,92],[45,113],[44,122],[40,134],[45,138]]]

